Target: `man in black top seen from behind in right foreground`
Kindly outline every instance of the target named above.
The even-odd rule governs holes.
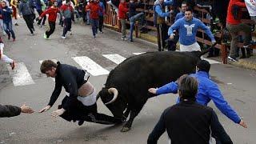
[[[156,144],[165,131],[171,143],[209,144],[210,131],[218,136],[221,143],[233,143],[218,122],[214,110],[196,102],[197,93],[198,81],[195,78],[188,75],[179,78],[178,94],[181,102],[162,113],[148,137],[148,144]]]

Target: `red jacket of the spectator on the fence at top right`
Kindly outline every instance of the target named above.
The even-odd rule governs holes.
[[[241,2],[241,0],[230,0],[229,6],[227,8],[227,16],[226,16],[226,23],[231,24],[231,25],[238,25],[241,23],[241,11],[239,12],[239,19],[234,19],[234,16],[232,14],[232,6],[238,5],[242,7],[246,7],[245,2]]]

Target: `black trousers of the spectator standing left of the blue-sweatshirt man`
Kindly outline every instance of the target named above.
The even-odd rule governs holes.
[[[158,30],[158,51],[163,51],[166,47],[166,39],[168,38],[168,26],[166,23],[157,24]]]

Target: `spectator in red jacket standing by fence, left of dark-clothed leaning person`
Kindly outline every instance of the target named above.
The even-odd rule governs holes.
[[[122,40],[126,40],[126,13],[129,11],[125,0],[120,0],[118,15],[122,25]]]

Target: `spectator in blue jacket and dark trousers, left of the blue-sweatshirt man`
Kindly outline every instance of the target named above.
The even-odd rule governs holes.
[[[165,18],[170,17],[170,11],[166,12],[165,6],[170,6],[173,4],[173,0],[166,1],[159,0],[154,4],[154,26],[158,30],[158,51],[164,50],[166,47],[165,40],[168,38],[167,35],[167,25]]]

